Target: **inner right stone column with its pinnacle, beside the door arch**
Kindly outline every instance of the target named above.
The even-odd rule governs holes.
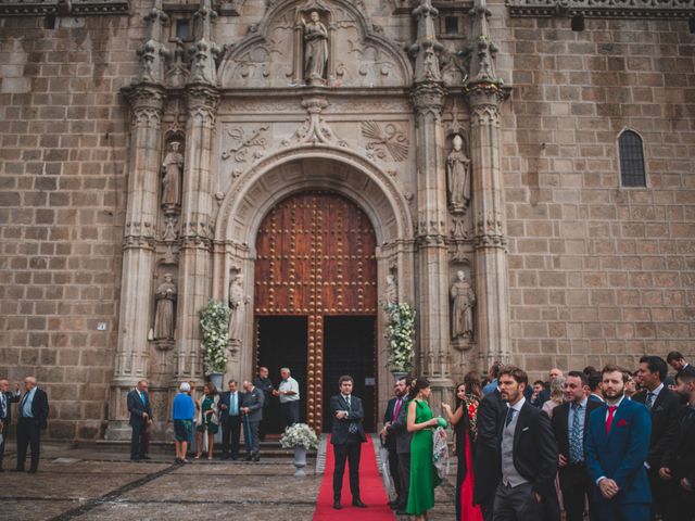
[[[413,104],[417,142],[417,309],[419,312],[419,371],[432,385],[432,403],[451,399],[448,369],[448,254],[446,246],[446,177],[442,87],[430,0],[413,12],[418,21]]]

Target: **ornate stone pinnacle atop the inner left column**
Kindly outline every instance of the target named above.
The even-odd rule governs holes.
[[[188,50],[191,55],[189,84],[217,85],[216,60],[220,56],[222,50],[212,37],[215,18],[217,13],[213,10],[211,0],[201,0],[200,8],[193,15],[199,36]]]

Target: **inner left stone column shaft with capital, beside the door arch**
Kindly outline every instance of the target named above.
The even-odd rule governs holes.
[[[219,94],[204,84],[186,90],[186,164],[181,202],[181,249],[176,341],[177,379],[202,379],[199,312],[211,294],[213,179],[211,160]]]

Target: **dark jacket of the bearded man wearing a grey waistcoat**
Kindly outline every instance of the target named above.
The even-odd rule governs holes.
[[[497,434],[497,460],[502,462],[502,431],[504,421],[500,422]],[[514,431],[514,467],[529,481],[533,492],[541,495],[544,501],[553,499],[555,492],[555,474],[557,473],[557,444],[553,435],[551,419],[538,407],[525,402],[517,427]],[[501,467],[497,469],[501,472]]]

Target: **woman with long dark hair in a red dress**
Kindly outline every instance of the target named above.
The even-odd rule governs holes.
[[[482,397],[480,377],[470,371],[464,377],[464,383],[456,385],[456,411],[452,414],[448,404],[442,409],[454,425],[456,436],[456,521],[482,521],[478,505],[473,506],[473,465],[472,455],[478,435],[478,405]]]

